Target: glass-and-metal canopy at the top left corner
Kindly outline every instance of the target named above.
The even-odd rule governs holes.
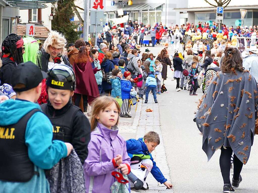
[[[57,2],[58,0],[5,0],[13,7],[22,9],[39,9],[46,8],[46,3]]]

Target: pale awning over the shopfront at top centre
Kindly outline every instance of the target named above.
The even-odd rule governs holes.
[[[163,4],[164,3],[144,3],[126,6],[107,6],[105,12],[113,12],[117,11],[118,9],[123,9],[123,11],[155,10],[155,8]]]

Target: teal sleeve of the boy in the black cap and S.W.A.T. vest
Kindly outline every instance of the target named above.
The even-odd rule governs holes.
[[[27,123],[25,144],[30,160],[41,169],[51,169],[61,158],[66,157],[64,142],[52,141],[53,126],[42,112],[36,112]]]

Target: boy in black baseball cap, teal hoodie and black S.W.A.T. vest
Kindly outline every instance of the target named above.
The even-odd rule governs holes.
[[[35,103],[43,78],[46,73],[34,63],[19,64],[11,78],[17,98],[0,104],[1,192],[49,193],[44,169],[51,169],[73,148],[70,143],[52,141],[53,126]]]

